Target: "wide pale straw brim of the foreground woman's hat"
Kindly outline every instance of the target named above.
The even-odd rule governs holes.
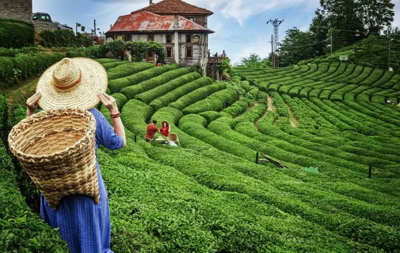
[[[80,83],[70,90],[57,90],[53,84],[53,72],[57,64],[48,68],[41,76],[36,91],[41,93],[39,106],[42,109],[76,107],[90,109],[99,104],[99,92],[105,92],[108,76],[104,67],[89,58],[71,58],[80,68],[82,78]]]

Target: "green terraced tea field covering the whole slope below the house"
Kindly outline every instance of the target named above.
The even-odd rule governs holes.
[[[250,86],[106,61],[128,135],[98,151],[114,252],[400,252],[400,112],[380,104],[400,98],[400,76],[337,63],[240,70]],[[152,119],[179,148],[144,142]],[[257,152],[288,168],[256,164]]]

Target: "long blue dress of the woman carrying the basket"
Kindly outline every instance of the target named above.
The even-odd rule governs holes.
[[[96,150],[99,145],[109,149],[123,146],[123,139],[114,131],[97,109],[89,110],[96,118]],[[97,155],[96,155],[97,160]],[[61,238],[72,253],[112,253],[110,250],[111,220],[108,197],[99,163],[96,162],[100,202],[95,204],[86,195],[64,196],[56,211],[40,196],[41,218],[53,228],[60,228]]]

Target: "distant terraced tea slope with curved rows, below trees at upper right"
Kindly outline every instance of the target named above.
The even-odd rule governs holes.
[[[275,91],[299,98],[332,102],[357,101],[398,103],[400,75],[361,65],[320,63],[282,69],[238,69],[247,80],[258,83],[260,91]]]

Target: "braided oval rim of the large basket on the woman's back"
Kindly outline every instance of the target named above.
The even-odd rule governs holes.
[[[90,126],[90,127],[88,128],[88,130],[86,131],[85,135],[84,135],[82,138],[80,138],[76,143],[74,143],[74,145],[68,146],[68,147],[66,147],[66,148],[64,148],[64,149],[62,149],[62,150],[57,151],[57,152],[53,152],[53,153],[51,153],[51,154],[43,154],[43,155],[32,155],[32,154],[26,154],[26,153],[24,153],[24,152],[22,152],[22,151],[20,151],[20,150],[17,150],[17,148],[16,148],[16,146],[15,146],[15,144],[14,144],[14,140],[13,140],[12,136],[13,136],[13,134],[17,131],[17,129],[20,128],[20,125],[21,125],[22,123],[31,121],[32,119],[38,118],[38,117],[40,117],[40,116],[44,116],[45,114],[49,114],[49,113],[51,113],[51,112],[60,112],[60,111],[61,111],[61,112],[62,112],[62,111],[66,111],[66,112],[71,112],[71,113],[72,113],[72,112],[80,112],[80,113],[83,113],[83,114],[87,114],[87,115],[89,116],[90,122],[92,122],[92,123],[94,122],[94,124],[91,124],[91,126]],[[93,127],[93,125],[94,125],[94,127]],[[26,117],[25,119],[21,120],[17,125],[15,125],[15,126],[10,130],[10,133],[9,133],[9,135],[8,135],[8,145],[9,145],[9,148],[10,148],[11,152],[12,152],[15,156],[20,156],[20,157],[23,157],[23,158],[25,158],[25,159],[34,159],[34,160],[37,160],[37,159],[51,159],[51,158],[55,157],[55,155],[62,155],[62,154],[65,154],[65,153],[68,154],[68,152],[69,152],[70,149],[75,149],[75,148],[77,148],[77,147],[78,147],[79,145],[81,145],[84,141],[86,141],[87,139],[89,139],[89,135],[90,135],[90,133],[91,133],[92,131],[96,134],[96,119],[95,119],[94,115],[93,115],[90,111],[85,110],[85,109],[82,109],[82,108],[58,108],[58,109],[48,109],[48,110],[42,110],[42,111],[40,111],[40,112],[37,112],[37,113],[35,113],[35,114],[32,114],[31,116]]]

